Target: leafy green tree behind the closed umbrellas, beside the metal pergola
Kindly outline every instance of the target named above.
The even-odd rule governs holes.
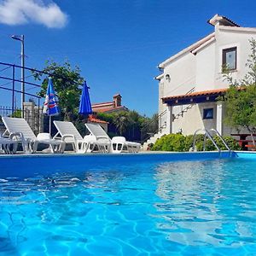
[[[72,121],[75,113],[78,112],[79,98],[81,95],[80,85],[84,79],[81,77],[79,67],[71,67],[69,61],[63,65],[55,61],[47,61],[43,72],[52,74],[52,80],[55,87],[55,93],[59,99],[59,106],[64,115],[64,119]],[[33,72],[35,79],[43,79],[44,73]],[[44,78],[42,88],[38,96],[45,96],[47,90],[48,78]]]

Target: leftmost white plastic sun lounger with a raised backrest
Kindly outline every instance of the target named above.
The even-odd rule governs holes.
[[[6,127],[4,134],[8,133],[10,139],[20,142],[24,153],[35,153],[40,143],[49,145],[52,153],[63,153],[65,143],[61,140],[50,138],[48,133],[39,133],[38,137],[36,137],[25,119],[9,117],[3,117],[2,119]]]

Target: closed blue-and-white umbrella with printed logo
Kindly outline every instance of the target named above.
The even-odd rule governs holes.
[[[58,115],[60,109],[58,107],[58,101],[55,96],[55,90],[53,88],[52,79],[48,80],[48,87],[46,91],[43,113],[49,116]]]

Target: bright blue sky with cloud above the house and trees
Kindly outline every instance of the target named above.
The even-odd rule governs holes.
[[[10,36],[24,34],[26,67],[68,59],[90,85],[91,102],[119,92],[127,108],[151,116],[157,65],[212,32],[207,20],[215,14],[256,26],[255,8],[254,1],[225,0],[0,0],[0,61],[20,64],[20,44]],[[0,106],[10,101],[0,90]]]

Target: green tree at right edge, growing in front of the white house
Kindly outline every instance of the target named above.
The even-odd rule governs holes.
[[[246,66],[248,73],[237,81],[233,79],[228,67],[224,67],[224,80],[230,84],[223,97],[226,108],[226,124],[240,130],[246,128],[252,136],[256,131],[256,40],[249,40],[251,54],[248,57]]]

